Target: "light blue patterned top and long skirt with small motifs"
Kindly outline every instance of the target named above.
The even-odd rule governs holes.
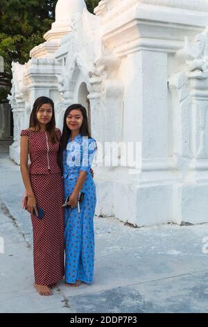
[[[94,212],[96,207],[96,186],[89,172],[96,141],[78,134],[73,141],[69,138],[64,151],[63,177],[64,197],[71,196],[80,170],[87,172],[81,192],[85,193],[78,207],[64,210],[65,281],[75,284],[76,280],[91,284],[94,275]]]

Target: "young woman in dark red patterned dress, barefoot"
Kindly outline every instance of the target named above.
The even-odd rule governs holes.
[[[53,101],[48,97],[37,98],[30,127],[21,131],[20,164],[33,225],[34,286],[45,296],[52,294],[51,289],[64,276],[63,186],[58,166],[60,136],[60,130],[55,128]],[[44,211],[42,219],[37,218],[37,206]]]

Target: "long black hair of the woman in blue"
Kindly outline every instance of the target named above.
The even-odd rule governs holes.
[[[62,163],[63,153],[67,147],[69,137],[71,136],[71,130],[69,129],[69,127],[67,127],[67,116],[74,109],[79,110],[83,114],[83,124],[80,127],[80,131],[79,131],[80,134],[82,136],[88,136],[88,138],[91,138],[91,135],[89,133],[87,111],[86,111],[85,107],[82,106],[81,104],[71,104],[71,106],[69,106],[64,113],[62,137],[60,139],[60,148],[59,148],[59,152],[58,152],[58,163],[62,170],[63,170],[63,163]]]

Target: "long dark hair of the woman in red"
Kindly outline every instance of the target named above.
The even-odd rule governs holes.
[[[52,108],[52,118],[50,122],[46,125],[46,131],[49,131],[50,133],[50,139],[52,143],[55,143],[58,141],[58,138],[55,134],[55,112],[54,112],[54,103],[53,100],[51,100],[49,97],[37,97],[33,104],[33,110],[31,111],[31,117],[30,117],[30,128],[34,130],[40,130],[40,123],[37,120],[37,111],[41,108],[43,104],[51,104]]]

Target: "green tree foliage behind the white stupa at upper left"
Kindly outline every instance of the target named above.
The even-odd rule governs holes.
[[[44,42],[43,35],[55,20],[58,0],[1,0],[0,56],[4,58],[4,72],[0,73],[0,102],[6,101],[11,87],[12,61],[26,63],[35,45]],[[98,0],[87,0],[93,12]],[[3,88],[1,88],[3,86]]]

